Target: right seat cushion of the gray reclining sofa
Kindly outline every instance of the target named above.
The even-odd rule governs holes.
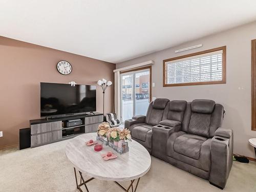
[[[184,134],[175,139],[174,151],[193,159],[199,159],[201,146],[204,141],[206,141],[205,137]]]

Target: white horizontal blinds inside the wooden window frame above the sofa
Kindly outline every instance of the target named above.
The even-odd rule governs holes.
[[[222,81],[223,50],[166,61],[165,84]]]

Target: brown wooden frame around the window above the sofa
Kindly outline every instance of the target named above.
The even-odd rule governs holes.
[[[222,80],[221,81],[184,82],[184,83],[173,83],[173,84],[165,83],[165,62],[182,59],[182,58],[186,58],[186,57],[192,57],[192,56],[196,56],[196,55],[202,55],[205,53],[210,53],[210,52],[215,52],[215,51],[220,51],[220,50],[223,51],[223,53],[222,53]],[[163,87],[198,86],[198,85],[202,85],[202,84],[225,84],[225,83],[226,83],[226,46],[163,60]]]

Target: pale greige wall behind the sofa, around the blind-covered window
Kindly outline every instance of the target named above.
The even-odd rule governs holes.
[[[138,57],[122,63],[116,68],[154,60],[152,66],[152,96],[157,98],[212,99],[224,105],[226,116],[223,127],[234,132],[234,153],[255,158],[253,147],[248,139],[256,137],[251,131],[251,40],[256,39],[256,22],[240,26],[218,34],[189,41],[180,46]],[[175,53],[177,49],[203,44],[202,48]],[[207,49],[227,46],[227,82],[226,84],[163,87],[163,59],[177,57]]]

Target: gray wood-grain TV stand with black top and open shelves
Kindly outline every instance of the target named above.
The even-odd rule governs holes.
[[[81,119],[82,124],[66,127],[66,121]],[[103,114],[83,114],[61,118],[30,120],[31,147],[45,145],[73,138],[84,133],[97,132],[98,125],[103,122]]]

